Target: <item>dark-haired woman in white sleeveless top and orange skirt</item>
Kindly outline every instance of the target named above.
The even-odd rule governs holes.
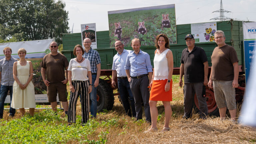
[[[157,49],[149,98],[152,125],[148,131],[157,131],[157,101],[162,101],[164,105],[165,123],[162,131],[169,131],[172,115],[170,101],[172,101],[173,55],[169,49],[169,39],[165,34],[159,34],[156,37],[155,46]]]

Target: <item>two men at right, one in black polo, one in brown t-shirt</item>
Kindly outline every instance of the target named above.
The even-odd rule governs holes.
[[[205,100],[205,86],[213,88],[220,118],[224,120],[228,108],[231,121],[236,122],[235,88],[238,87],[238,58],[235,49],[225,43],[225,34],[218,30],[214,33],[215,43],[211,55],[211,74],[208,82],[208,61],[205,51],[195,46],[192,34],[185,37],[188,48],[182,51],[180,66],[180,87],[184,75],[184,115],[192,116],[193,99],[196,94],[199,105],[199,118],[206,119],[208,115]]]

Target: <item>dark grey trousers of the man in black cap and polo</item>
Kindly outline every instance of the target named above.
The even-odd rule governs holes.
[[[202,97],[203,82],[200,83],[184,83],[184,115],[186,117],[192,116],[194,95],[196,93],[200,116],[208,115],[208,107],[205,97]]]

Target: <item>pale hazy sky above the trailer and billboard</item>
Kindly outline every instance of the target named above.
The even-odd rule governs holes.
[[[108,11],[175,4],[176,24],[212,22],[219,16],[220,0],[62,0],[69,12],[70,31],[81,32],[81,24],[96,23],[97,31],[109,30]],[[222,0],[226,17],[256,21],[256,0]]]

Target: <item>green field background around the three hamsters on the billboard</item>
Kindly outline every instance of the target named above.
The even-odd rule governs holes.
[[[171,28],[162,27],[162,14],[167,13],[169,14]],[[174,8],[110,14],[108,15],[108,18],[110,47],[114,47],[116,39],[116,37],[114,37],[115,22],[120,22],[122,27],[122,42],[125,46],[130,46],[133,38],[139,38],[142,46],[154,45],[155,38],[160,33],[166,34],[171,44],[177,42]],[[145,27],[147,29],[147,33],[144,35],[138,33],[138,22],[142,21],[145,22]]]

